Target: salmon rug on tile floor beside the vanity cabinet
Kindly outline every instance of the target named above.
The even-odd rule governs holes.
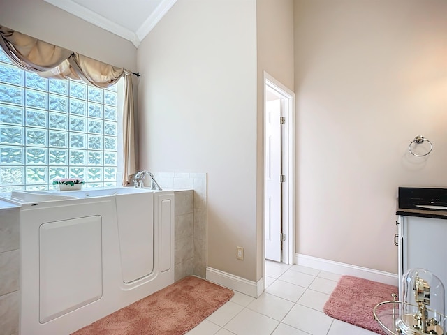
[[[372,310],[379,302],[393,300],[391,294],[397,292],[399,289],[393,285],[342,276],[323,311],[332,318],[385,335]]]

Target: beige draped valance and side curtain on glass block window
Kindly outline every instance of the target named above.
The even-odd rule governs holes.
[[[124,177],[122,180],[122,185],[126,186],[129,174],[136,172],[132,73],[124,68],[105,64],[1,25],[0,45],[18,67],[35,72],[41,77],[82,80],[87,84],[105,88],[115,84],[123,75],[126,76],[123,110]]]

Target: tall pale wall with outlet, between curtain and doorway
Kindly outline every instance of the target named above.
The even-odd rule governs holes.
[[[138,70],[139,167],[207,172],[207,265],[255,280],[256,1],[177,1]]]

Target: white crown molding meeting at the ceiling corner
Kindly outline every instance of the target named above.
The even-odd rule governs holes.
[[[107,18],[99,15],[98,13],[94,13],[93,11],[80,6],[78,3],[75,3],[71,0],[44,0],[47,3],[52,4],[62,10],[65,10],[68,13],[71,13],[77,17],[80,17],[82,20],[90,22],[97,27],[110,31],[110,33],[115,34],[119,37],[122,37],[126,40],[130,40],[135,47],[140,45],[140,42],[149,34],[149,32],[154,29],[157,23],[161,20],[163,15],[168,13],[168,10],[177,2],[177,0],[163,0],[156,7],[154,12],[147,17],[145,22],[141,25],[141,27],[136,31],[131,31],[122,27],[115,22],[108,20]]]

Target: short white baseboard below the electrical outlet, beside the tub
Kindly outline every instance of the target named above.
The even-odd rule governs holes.
[[[213,269],[212,267],[207,267],[206,278],[207,281],[212,281],[213,283],[244,293],[250,297],[257,298],[264,290],[263,278],[258,282],[248,281],[245,278],[235,276],[234,274],[228,274],[228,272]]]

